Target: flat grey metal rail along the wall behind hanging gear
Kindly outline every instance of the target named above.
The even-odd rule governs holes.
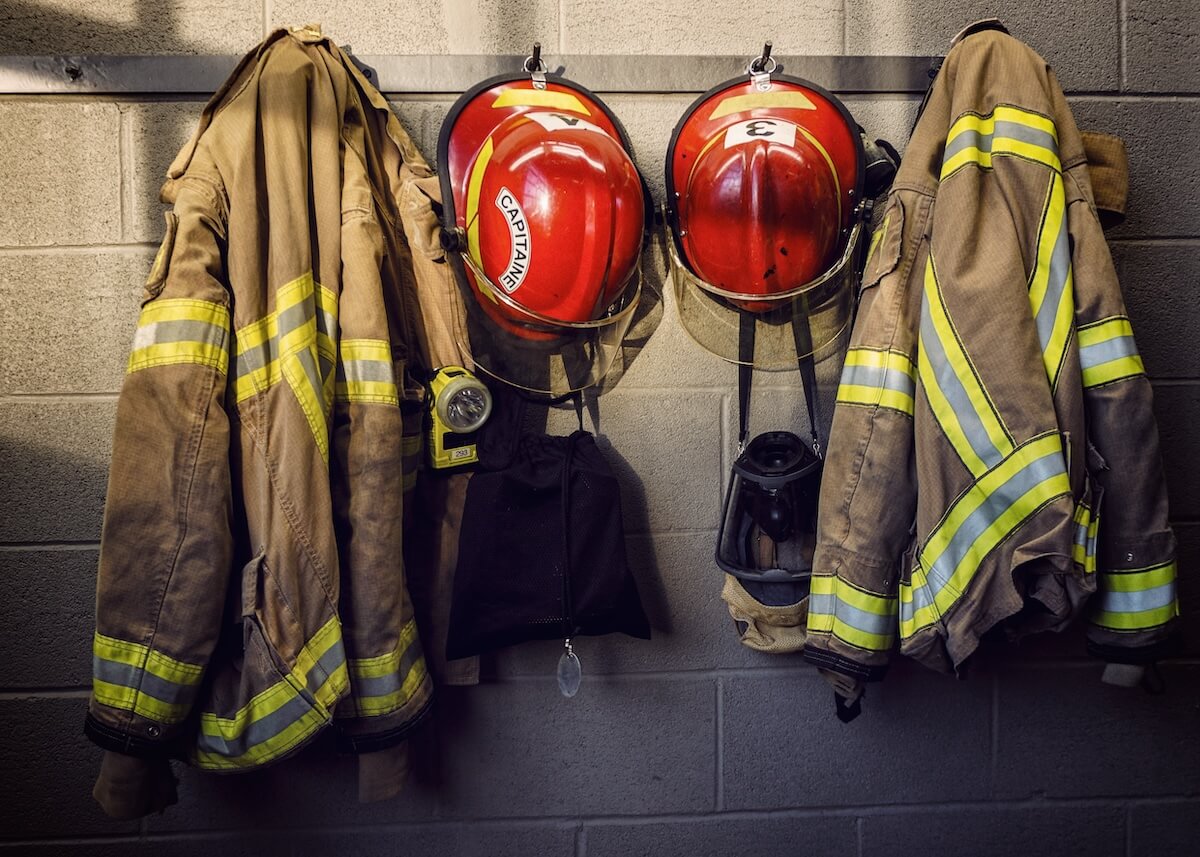
[[[208,95],[236,56],[0,56],[0,95]],[[462,92],[520,72],[523,56],[355,56],[384,92]],[[546,66],[596,92],[703,92],[745,73],[745,56],[545,55]],[[930,56],[775,56],[781,73],[836,92],[920,94]]]

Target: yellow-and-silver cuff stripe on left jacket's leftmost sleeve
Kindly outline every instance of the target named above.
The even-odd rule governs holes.
[[[162,724],[180,723],[196,700],[204,675],[140,643],[97,633],[92,641],[92,693],[101,705]]]

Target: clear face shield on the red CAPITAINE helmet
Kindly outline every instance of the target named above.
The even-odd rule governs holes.
[[[469,252],[455,257],[462,265],[460,287],[470,340],[460,344],[478,370],[529,392],[563,396],[598,384],[612,367],[641,300],[641,257],[617,299],[599,318],[583,322],[564,322],[523,306],[492,282]]]

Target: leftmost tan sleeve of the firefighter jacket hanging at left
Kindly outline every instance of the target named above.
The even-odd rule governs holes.
[[[184,190],[146,282],[121,388],[96,593],[85,731],[163,756],[216,645],[229,529],[229,299],[218,193]]]

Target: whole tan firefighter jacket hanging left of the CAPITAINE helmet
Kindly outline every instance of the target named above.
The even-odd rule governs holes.
[[[402,200],[430,175],[312,29],[247,55],[172,164],[104,511],[101,747],[238,771],[428,709],[401,556],[426,353]]]

